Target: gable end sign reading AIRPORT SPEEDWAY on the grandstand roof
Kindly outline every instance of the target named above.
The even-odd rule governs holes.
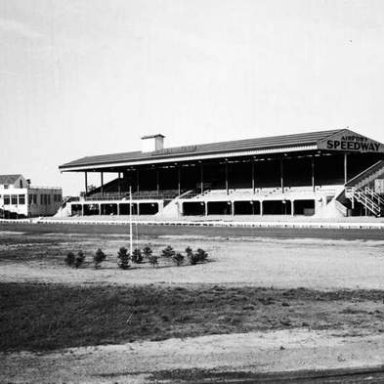
[[[317,144],[319,149],[342,152],[384,153],[384,145],[348,129],[338,132]]]

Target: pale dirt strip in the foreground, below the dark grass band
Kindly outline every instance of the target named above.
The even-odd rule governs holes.
[[[377,367],[384,364],[384,336],[305,330],[213,335],[0,355],[0,364],[2,382],[97,384],[153,383],[157,372],[169,380],[173,371],[191,369],[213,369],[225,377],[225,372]]]

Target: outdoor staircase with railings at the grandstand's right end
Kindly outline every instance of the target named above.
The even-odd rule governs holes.
[[[384,214],[384,198],[371,188],[375,180],[383,175],[384,160],[380,160],[345,185],[344,196],[351,201],[352,208],[358,201],[375,216]]]

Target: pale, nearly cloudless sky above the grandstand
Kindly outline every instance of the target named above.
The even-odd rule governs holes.
[[[65,195],[147,134],[384,142],[384,1],[0,0],[0,97],[0,173]]]

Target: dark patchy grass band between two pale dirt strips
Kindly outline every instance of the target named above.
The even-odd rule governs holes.
[[[0,283],[0,350],[286,328],[382,332],[381,291]]]

